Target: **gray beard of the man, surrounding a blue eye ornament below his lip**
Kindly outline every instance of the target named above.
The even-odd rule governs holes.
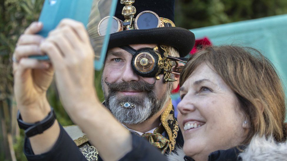
[[[124,124],[139,124],[151,118],[164,108],[165,104],[170,99],[172,87],[171,85],[171,83],[168,83],[168,87],[166,88],[166,91],[161,98],[157,98],[153,90],[145,92],[146,95],[144,97],[119,97],[117,96],[116,91],[106,94],[106,92],[103,90],[106,106],[110,109],[111,113],[119,122]],[[131,102],[135,104],[136,107],[126,109],[120,106],[120,103],[122,102]]]

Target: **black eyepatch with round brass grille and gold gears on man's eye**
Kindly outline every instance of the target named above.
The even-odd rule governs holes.
[[[134,72],[142,77],[155,77],[157,80],[159,74],[163,74],[163,82],[173,82],[171,74],[180,75],[181,67],[178,66],[177,61],[186,63],[188,58],[184,57],[171,57],[169,56],[168,47],[160,45],[160,49],[156,46],[152,48],[142,48],[135,50],[130,46],[119,47],[133,55],[131,66]],[[171,71],[173,66],[172,61],[175,61],[175,71]]]

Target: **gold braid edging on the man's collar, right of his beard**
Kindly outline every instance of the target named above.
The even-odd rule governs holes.
[[[170,100],[168,107],[161,114],[161,123],[162,123],[163,127],[166,129],[166,132],[168,134],[168,138],[170,140],[170,143],[168,145],[170,152],[172,150],[174,150],[174,146],[175,146],[175,137],[174,137],[175,135],[173,135],[171,128],[168,126],[168,120],[170,118],[170,117],[168,117],[168,115],[170,115],[171,110],[172,110],[172,103]],[[177,132],[176,132],[176,135],[177,135]]]

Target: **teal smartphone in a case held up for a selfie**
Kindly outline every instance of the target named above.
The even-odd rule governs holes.
[[[93,22],[100,21],[100,16],[91,15],[92,7],[97,9],[97,4],[102,0],[45,0],[44,5],[39,17],[39,21],[43,23],[43,29],[38,33],[43,37],[47,37],[49,32],[56,28],[59,22],[64,18],[71,18],[76,21],[79,21],[86,26],[87,30],[89,30],[88,23],[90,19],[93,19]],[[105,3],[110,3],[111,8],[106,11],[109,16],[114,16],[116,10],[117,0],[103,0]],[[94,14],[99,14],[99,11],[93,11]],[[94,18],[93,18],[94,17]],[[97,20],[99,19],[99,20]],[[110,18],[111,19],[111,18]],[[96,24],[94,24],[96,25]],[[108,23],[107,30],[111,26],[111,21]],[[94,35],[94,33],[93,33]],[[91,38],[91,37],[90,37]],[[91,38],[91,43],[93,43],[93,38]],[[103,67],[107,46],[109,43],[109,34],[103,36],[101,41],[97,41],[96,46],[100,46],[100,49],[97,49],[97,56],[95,58],[94,67],[96,70],[100,70]],[[47,55],[39,56],[32,55],[29,58],[35,58],[38,60],[47,61],[49,57]]]

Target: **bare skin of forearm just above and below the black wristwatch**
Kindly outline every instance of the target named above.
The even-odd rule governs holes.
[[[43,120],[51,111],[51,107],[46,99],[39,100],[29,107],[21,108],[20,113],[24,122],[35,123]],[[25,110],[21,110],[25,109]],[[35,155],[51,150],[59,137],[60,128],[57,120],[42,134],[30,137],[31,147]]]

